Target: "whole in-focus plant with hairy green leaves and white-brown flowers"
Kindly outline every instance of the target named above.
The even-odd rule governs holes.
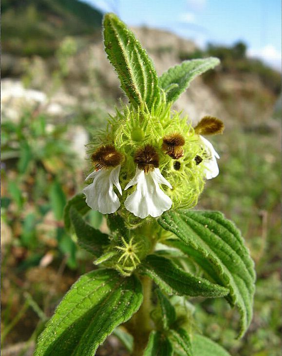
[[[88,185],[64,213],[98,268],[65,295],[35,355],[94,355],[111,333],[134,356],[228,355],[199,334],[188,302],[225,297],[241,316],[238,337],[252,318],[254,264],[240,232],[220,212],[191,210],[206,179],[219,173],[219,155],[204,136],[224,125],[206,116],[193,127],[171,111],[190,81],[219,60],[184,61],[158,78],[113,14],[104,18],[104,41],[129,104],[89,144]],[[91,209],[105,214],[108,234],[86,222]]]

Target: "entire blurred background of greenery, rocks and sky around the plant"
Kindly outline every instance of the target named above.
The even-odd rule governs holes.
[[[174,108],[193,122],[225,123],[213,139],[220,175],[197,208],[221,210],[240,227],[257,289],[242,340],[222,299],[192,300],[195,324],[231,355],[281,355],[280,0],[1,1],[2,355],[32,355],[64,293],[93,269],[62,216],[83,187],[85,145],[124,98],[103,50],[108,11],[131,26],[159,75],[185,59],[221,59]],[[106,231],[97,212],[88,220]],[[128,354],[111,336],[97,355]]]

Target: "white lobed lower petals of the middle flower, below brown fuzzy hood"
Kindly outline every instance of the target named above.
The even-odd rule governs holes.
[[[136,217],[143,219],[150,215],[156,218],[170,209],[172,201],[161,190],[159,184],[166,184],[170,189],[172,189],[172,186],[161,175],[158,168],[154,168],[153,171],[146,174],[144,170],[136,167],[134,178],[131,179],[124,190],[135,184],[137,184],[135,192],[126,198],[124,205]]]

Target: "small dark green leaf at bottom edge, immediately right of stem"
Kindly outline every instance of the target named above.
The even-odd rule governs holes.
[[[172,356],[169,339],[158,331],[152,331],[143,356]]]

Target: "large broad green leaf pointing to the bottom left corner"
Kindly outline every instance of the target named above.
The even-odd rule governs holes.
[[[135,276],[101,269],[72,286],[39,336],[35,356],[92,356],[113,329],[140,307],[142,286]]]

